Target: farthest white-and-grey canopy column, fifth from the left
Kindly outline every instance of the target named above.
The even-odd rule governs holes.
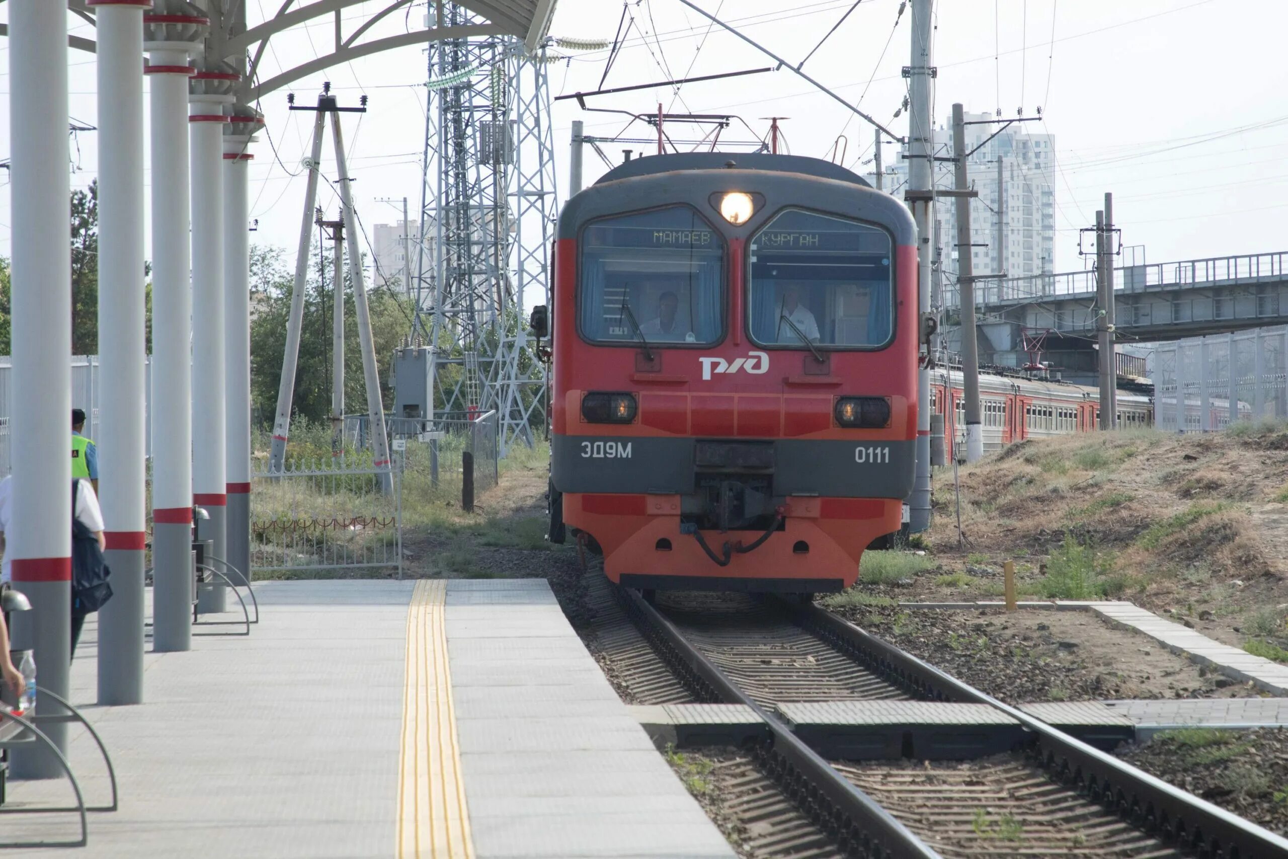
[[[245,6],[245,4],[242,4]],[[228,555],[233,585],[250,578],[250,160],[264,117],[234,104],[224,126],[224,361],[228,407]],[[111,603],[109,603],[111,604]],[[102,635],[102,632],[100,632]]]

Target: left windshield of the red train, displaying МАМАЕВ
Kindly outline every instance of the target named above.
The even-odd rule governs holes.
[[[581,234],[577,325],[592,343],[712,345],[723,339],[724,238],[694,209],[591,222]]]

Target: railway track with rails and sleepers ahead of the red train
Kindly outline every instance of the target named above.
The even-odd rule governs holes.
[[[764,719],[769,739],[750,750],[756,771],[841,855],[1288,855],[1288,841],[817,607],[708,595],[668,595],[654,607],[635,591],[612,592],[697,701],[744,704]],[[829,762],[783,715],[791,703],[824,701],[983,704],[1023,741],[969,761]],[[793,833],[815,837],[799,822]]]

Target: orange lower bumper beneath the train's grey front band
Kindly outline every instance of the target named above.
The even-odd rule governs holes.
[[[743,580],[841,580],[845,587],[859,573],[863,550],[877,537],[898,531],[900,502],[866,500],[860,516],[824,516],[828,498],[791,498],[786,527],[755,550],[733,552],[720,567],[693,534],[680,533],[677,496],[564,495],[564,522],[591,534],[604,551],[604,573]],[[609,500],[605,502],[605,500]],[[853,504],[851,500],[838,500]],[[705,531],[716,555],[725,542],[750,545],[760,532]]]

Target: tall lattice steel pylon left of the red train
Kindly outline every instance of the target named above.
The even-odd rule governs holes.
[[[442,26],[477,23],[443,6]],[[524,292],[549,296],[555,209],[545,49],[513,37],[429,49],[415,334],[434,348],[447,411],[496,410],[504,456],[532,444],[545,367]],[[549,301],[547,301],[549,303]]]

